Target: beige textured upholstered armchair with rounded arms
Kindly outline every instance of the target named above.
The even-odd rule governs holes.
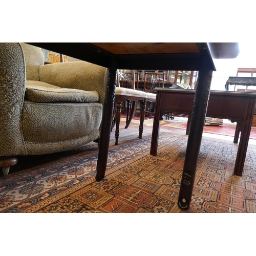
[[[17,156],[61,152],[100,136],[107,69],[85,61],[44,65],[40,48],[0,43],[0,167]]]

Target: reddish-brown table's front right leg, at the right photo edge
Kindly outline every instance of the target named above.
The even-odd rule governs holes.
[[[244,162],[248,147],[248,142],[250,138],[250,132],[251,132],[251,124],[253,120],[254,115],[254,109],[255,109],[255,101],[256,99],[250,98],[249,102],[247,104],[247,110],[245,111],[245,117],[244,122],[242,124],[242,131],[241,131],[241,137],[240,142],[238,146],[238,153],[236,158],[236,163],[234,165],[234,175],[242,176],[243,169],[244,169]]]

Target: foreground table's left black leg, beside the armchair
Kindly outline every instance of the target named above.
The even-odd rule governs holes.
[[[109,78],[106,84],[105,98],[103,104],[102,124],[99,140],[99,155],[97,161],[96,180],[100,181],[105,176],[106,164],[108,161],[110,133],[113,120],[113,108],[115,103],[117,63],[112,61],[112,66],[109,68]]]

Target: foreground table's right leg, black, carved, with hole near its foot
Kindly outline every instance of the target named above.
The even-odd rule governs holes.
[[[211,77],[211,70],[203,68],[199,71],[178,198],[178,206],[181,209],[189,209],[190,206],[210,94]]]

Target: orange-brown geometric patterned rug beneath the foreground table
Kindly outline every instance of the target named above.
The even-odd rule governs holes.
[[[187,136],[161,127],[150,155],[152,126],[111,133],[105,178],[95,180],[96,143],[65,153],[20,157],[0,176],[0,212],[256,212],[256,146],[249,144],[242,177],[232,175],[238,145],[203,137],[189,210],[177,206]]]

